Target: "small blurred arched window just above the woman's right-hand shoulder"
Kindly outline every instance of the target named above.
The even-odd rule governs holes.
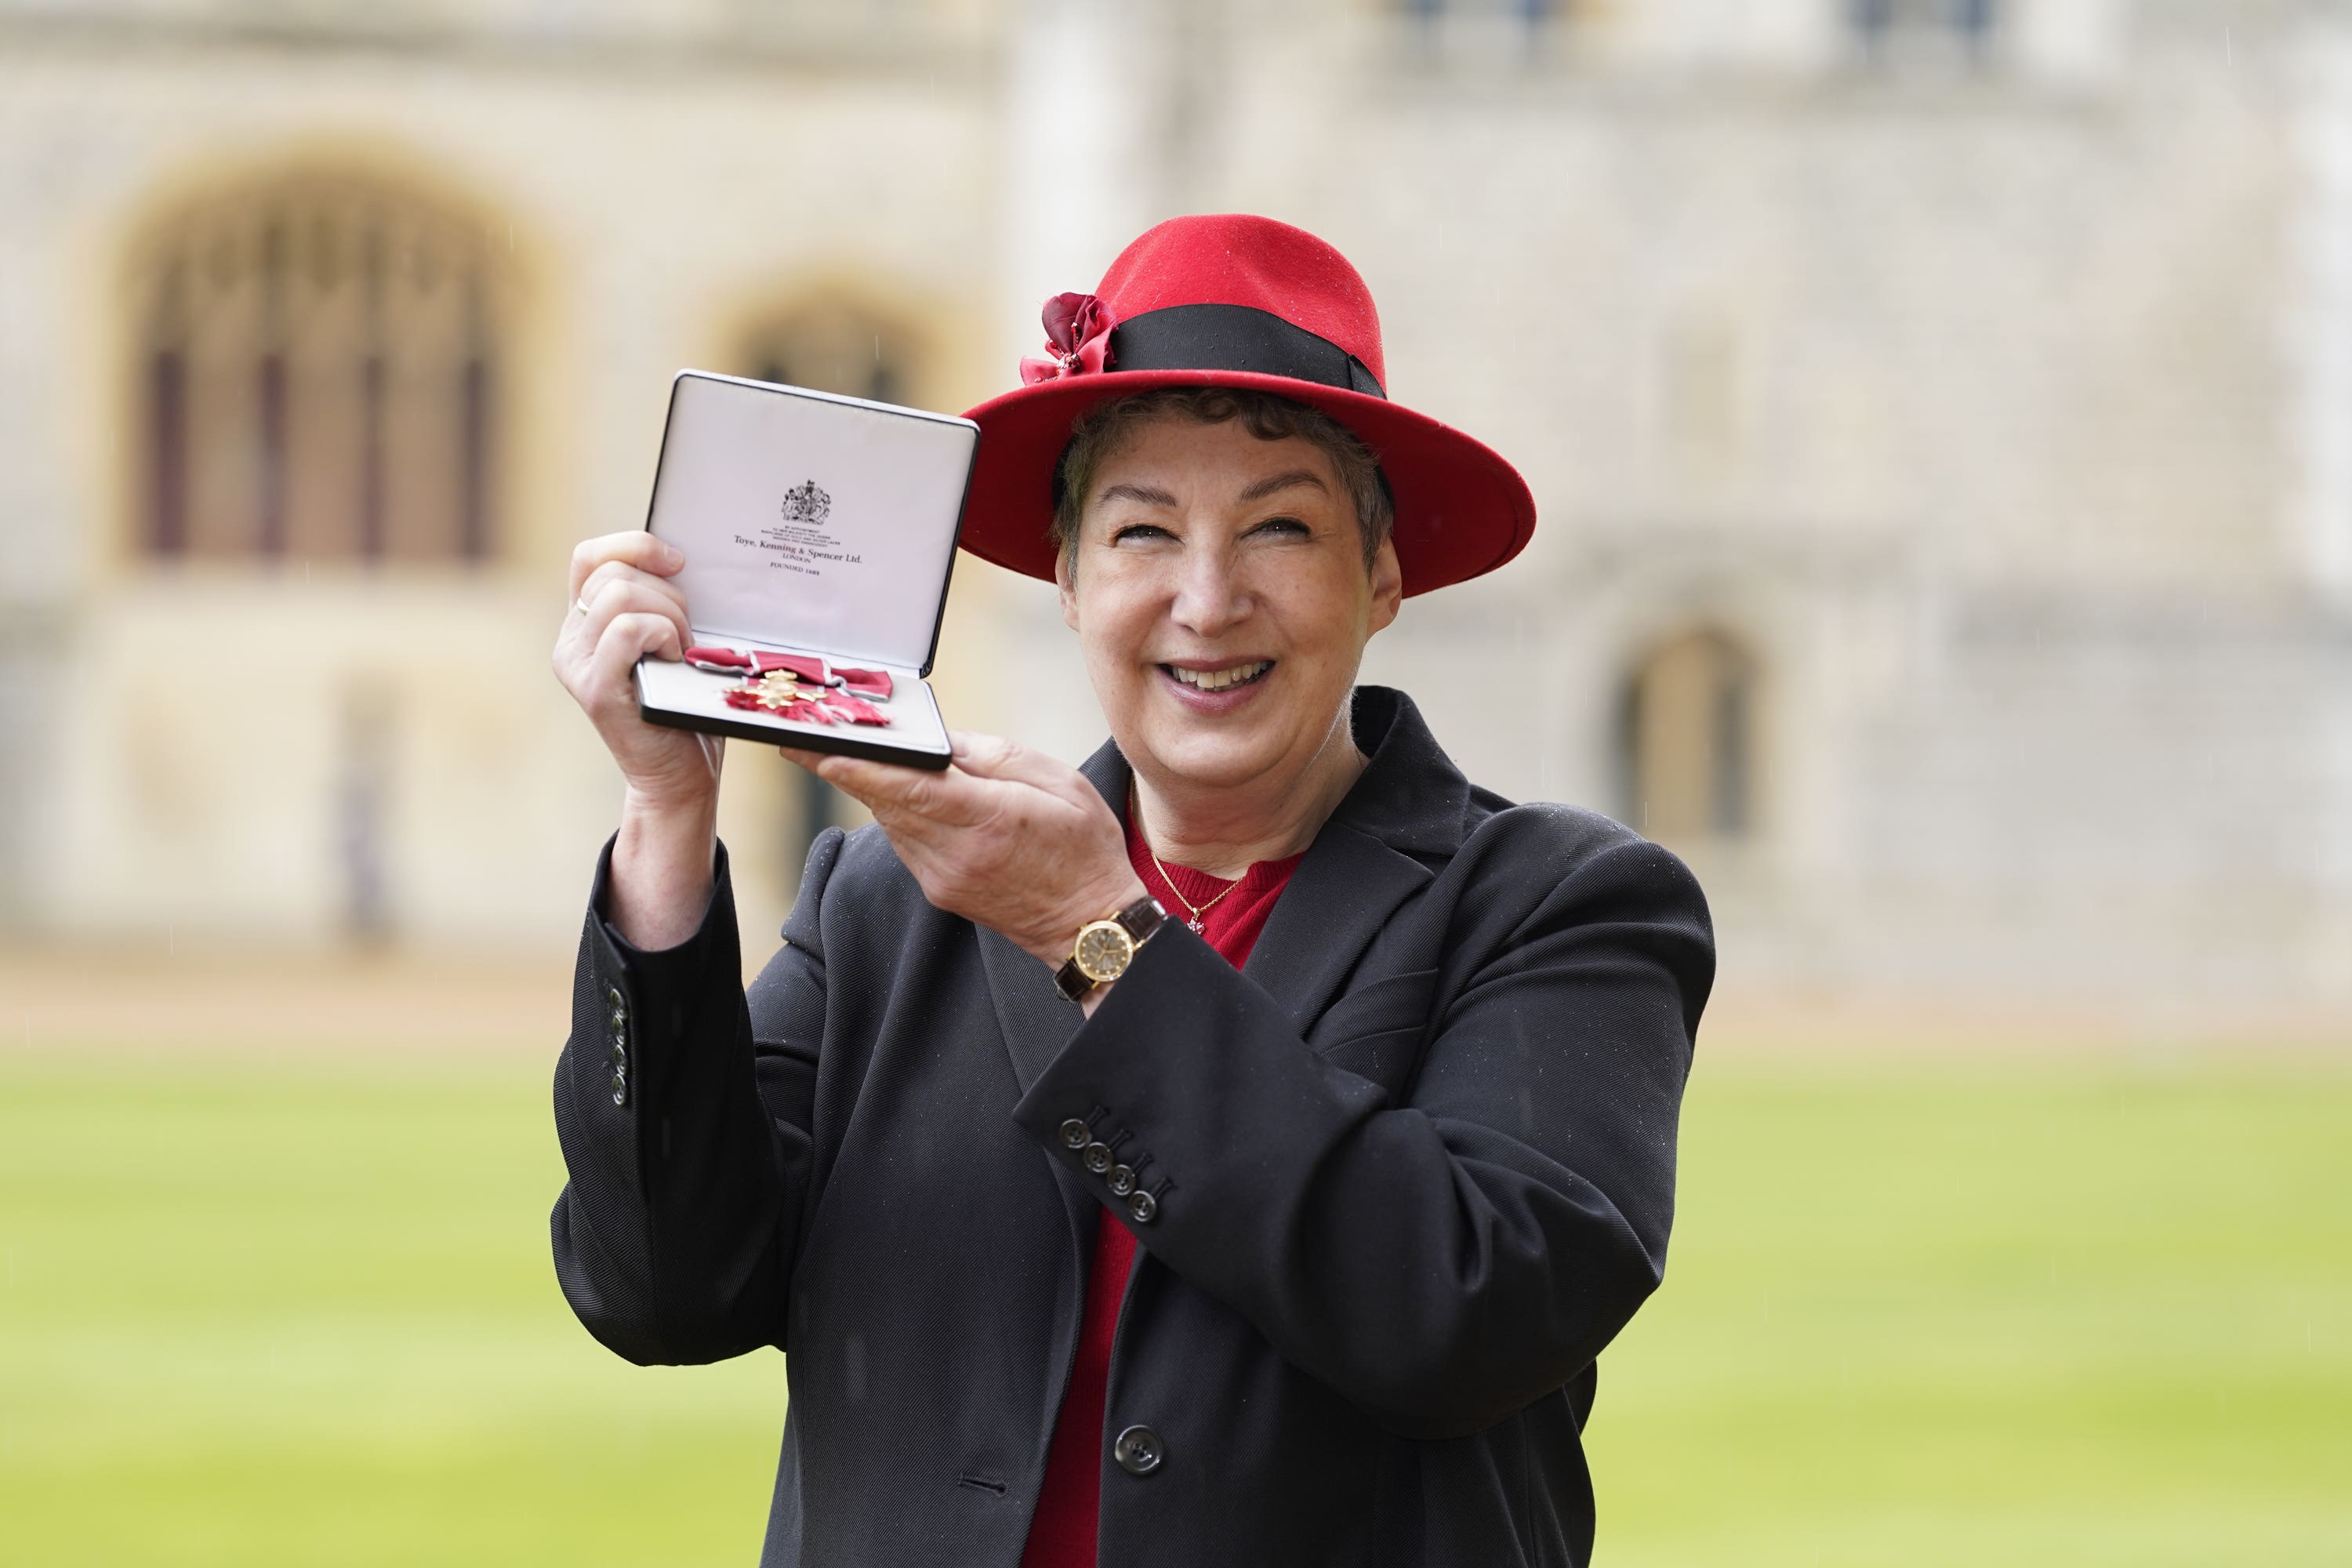
[[[1755,661],[1722,632],[1661,642],[1618,698],[1623,820],[1661,842],[1755,825]]]

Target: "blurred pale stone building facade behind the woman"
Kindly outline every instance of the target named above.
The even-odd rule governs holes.
[[[1536,487],[1367,679],[1684,851],[1726,985],[2352,1011],[2317,0],[0,0],[0,919],[562,945],[616,780],[546,646],[668,374],[967,407],[1209,209]],[[974,562],[938,686],[1101,738]],[[826,811],[739,748],[746,931]]]

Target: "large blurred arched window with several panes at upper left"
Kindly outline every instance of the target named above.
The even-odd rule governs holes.
[[[162,223],[132,270],[146,552],[489,555],[492,256],[480,223],[353,174],[256,181]]]

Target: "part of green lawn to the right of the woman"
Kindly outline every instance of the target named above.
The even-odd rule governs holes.
[[[1618,1568],[2352,1563],[2352,1074],[1705,1070]]]

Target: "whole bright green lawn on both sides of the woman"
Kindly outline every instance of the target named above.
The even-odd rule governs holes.
[[[0,1561],[750,1563],[783,1366],[555,1293],[546,1072],[0,1058]],[[2352,1563],[2352,1072],[1712,1060],[1599,1561]]]

